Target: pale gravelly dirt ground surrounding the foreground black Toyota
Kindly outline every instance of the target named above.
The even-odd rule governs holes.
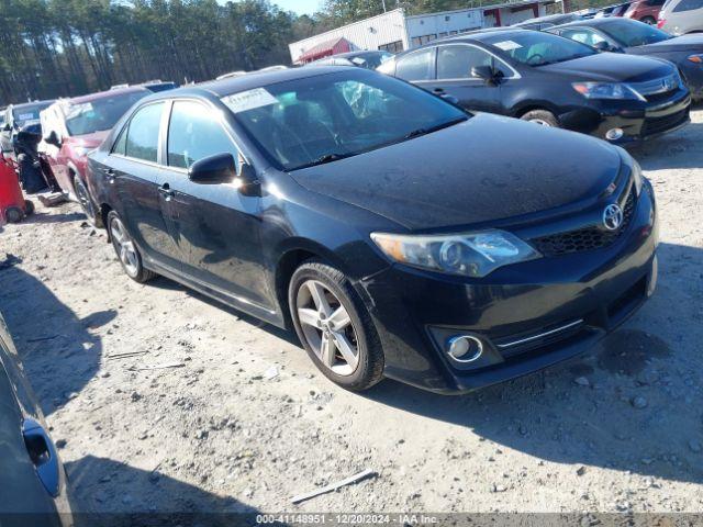
[[[659,203],[655,296],[582,358],[466,396],[345,392],[294,335],[131,281],[75,204],[0,227],[21,259],[0,310],[74,508],[703,512],[703,108],[632,154]]]

